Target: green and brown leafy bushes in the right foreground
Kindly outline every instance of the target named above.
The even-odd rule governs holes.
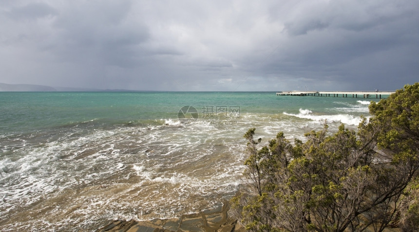
[[[372,102],[370,112],[358,132],[341,125],[328,136],[324,124],[305,143],[278,133],[258,149],[250,129],[249,191],[233,198],[234,216],[249,231],[415,230],[419,83]]]

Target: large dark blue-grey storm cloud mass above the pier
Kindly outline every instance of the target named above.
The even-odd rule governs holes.
[[[400,76],[412,83],[418,75],[418,7],[414,1],[330,1],[299,8],[284,23],[279,52],[259,70],[332,89],[391,89],[395,82],[403,85]]]

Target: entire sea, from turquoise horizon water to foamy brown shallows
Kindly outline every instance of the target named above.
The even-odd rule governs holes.
[[[0,231],[176,217],[240,188],[246,141],[356,129],[375,98],[272,92],[0,92]],[[186,107],[185,107],[186,106]]]

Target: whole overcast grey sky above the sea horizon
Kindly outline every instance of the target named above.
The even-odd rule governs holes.
[[[0,0],[0,82],[170,91],[395,90],[419,0]]]

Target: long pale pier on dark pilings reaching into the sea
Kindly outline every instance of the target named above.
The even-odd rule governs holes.
[[[281,91],[276,93],[276,96],[318,96],[318,97],[376,97],[387,96],[394,94],[395,91]]]

